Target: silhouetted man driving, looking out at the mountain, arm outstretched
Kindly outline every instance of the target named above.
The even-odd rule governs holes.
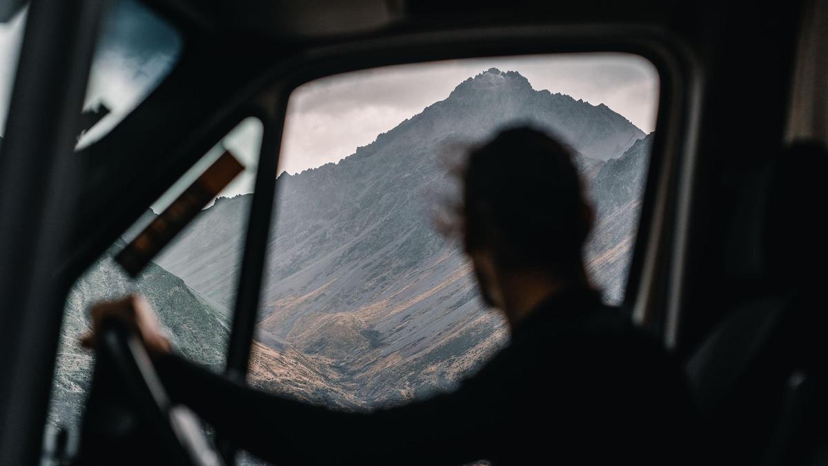
[[[509,129],[469,154],[458,231],[512,333],[459,389],[352,413],[237,385],[170,351],[140,298],[93,308],[137,324],[171,397],[280,464],[682,464],[688,397],[662,347],[586,278],[593,221],[570,152]],[[90,337],[88,342],[92,342]]]

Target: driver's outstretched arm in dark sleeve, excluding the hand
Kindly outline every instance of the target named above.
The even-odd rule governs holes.
[[[173,400],[274,463],[469,463],[496,451],[493,433],[507,414],[508,395],[490,367],[451,394],[350,413],[242,386],[172,354],[156,357],[156,366]]]

